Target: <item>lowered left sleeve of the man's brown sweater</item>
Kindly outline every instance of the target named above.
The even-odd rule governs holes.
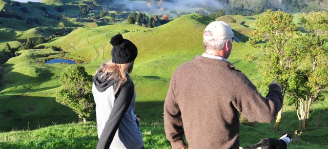
[[[164,128],[166,137],[171,142],[172,148],[182,148],[186,146],[186,143],[182,138],[184,130],[182,127],[181,112],[174,95],[173,82],[172,78],[164,102]]]

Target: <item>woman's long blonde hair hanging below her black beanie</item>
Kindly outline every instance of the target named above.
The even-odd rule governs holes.
[[[112,73],[107,79],[116,79],[118,80],[118,85],[115,90],[115,94],[118,92],[122,83],[128,80],[128,73],[131,73],[133,69],[133,61],[124,64],[118,64],[113,62],[103,63],[100,66],[99,70],[103,72],[103,75],[100,78],[106,77],[107,73]]]

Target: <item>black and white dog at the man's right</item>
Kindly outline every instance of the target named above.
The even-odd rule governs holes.
[[[253,146],[239,147],[239,149],[286,149],[292,140],[291,135],[283,134],[279,140],[264,138]]]

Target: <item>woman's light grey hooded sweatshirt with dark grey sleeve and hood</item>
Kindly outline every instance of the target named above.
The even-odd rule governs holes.
[[[131,77],[122,83],[115,95],[117,80],[108,79],[110,74],[103,78],[101,75],[103,72],[98,71],[92,86],[99,138],[97,148],[142,148],[144,141],[134,115],[136,94]]]

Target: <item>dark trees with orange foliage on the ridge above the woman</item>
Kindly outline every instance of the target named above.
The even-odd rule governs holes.
[[[163,14],[161,18],[159,18],[158,15],[149,17],[141,12],[129,14],[127,20],[129,24],[138,24],[139,26],[149,28],[161,26],[170,22],[169,16],[166,14]]]

